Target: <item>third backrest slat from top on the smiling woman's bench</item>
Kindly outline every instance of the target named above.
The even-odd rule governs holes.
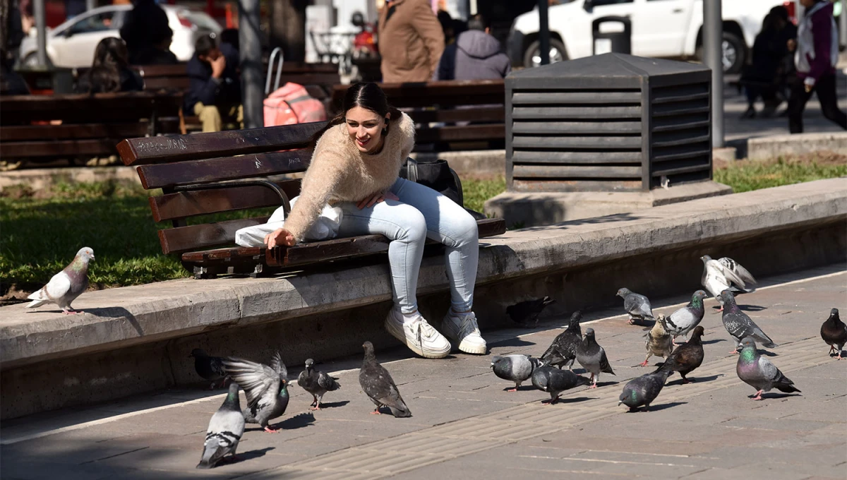
[[[277,182],[285,195],[291,198],[300,194],[300,180]],[[234,186],[210,190],[180,191],[149,197],[153,220],[174,220],[208,213],[230,212],[246,208],[279,207],[280,196],[267,187]]]

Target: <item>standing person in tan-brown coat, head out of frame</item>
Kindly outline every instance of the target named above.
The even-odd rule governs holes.
[[[379,12],[382,81],[427,81],[444,52],[444,31],[429,0],[393,0]]]

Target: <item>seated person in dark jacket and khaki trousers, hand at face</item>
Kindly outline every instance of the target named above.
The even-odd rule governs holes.
[[[200,117],[202,130],[223,130],[224,120],[235,121],[243,128],[241,80],[235,47],[230,43],[221,43],[219,47],[211,34],[201,36],[185,69],[190,82],[185,95],[185,111]]]

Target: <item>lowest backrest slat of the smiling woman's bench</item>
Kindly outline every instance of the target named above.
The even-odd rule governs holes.
[[[217,223],[202,223],[158,231],[162,252],[184,251],[221,246],[235,242],[235,230],[266,223],[268,217],[238,218]]]

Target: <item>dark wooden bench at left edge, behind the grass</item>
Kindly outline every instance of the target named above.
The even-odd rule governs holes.
[[[179,93],[19,95],[0,102],[0,157],[6,163],[108,157],[127,137],[156,135],[178,114]]]

